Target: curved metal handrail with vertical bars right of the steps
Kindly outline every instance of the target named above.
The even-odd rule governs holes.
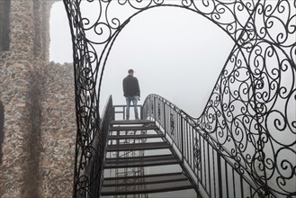
[[[197,119],[165,98],[150,94],[143,104],[144,119],[156,121],[179,154],[187,173],[209,197],[262,197],[264,184],[239,165],[229,150],[199,127]],[[226,155],[226,154],[227,155]],[[262,185],[260,185],[262,184]],[[272,192],[267,197],[274,197]]]

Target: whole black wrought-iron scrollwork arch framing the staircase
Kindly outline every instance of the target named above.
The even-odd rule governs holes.
[[[100,87],[112,44],[132,17],[159,6],[201,14],[234,40],[235,46],[221,66],[196,123],[215,139],[217,148],[230,150],[229,154],[221,149],[221,154],[231,158],[241,174],[247,170],[254,175],[265,194],[296,196],[295,188],[288,187],[296,175],[292,161],[296,156],[296,1],[63,1],[72,34],[76,77],[74,197],[95,196],[87,189],[97,178],[91,179],[85,168],[90,157],[103,157],[102,147],[90,148],[94,137],[102,132],[95,123],[100,122]],[[94,12],[85,12],[89,7]],[[121,12],[113,12],[115,8]],[[92,155],[87,150],[92,150]],[[83,185],[79,183],[81,178]]]

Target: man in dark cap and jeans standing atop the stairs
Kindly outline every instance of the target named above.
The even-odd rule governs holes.
[[[123,95],[126,98],[127,111],[126,111],[126,120],[130,120],[130,102],[134,105],[135,117],[136,120],[139,120],[139,113],[137,108],[137,103],[139,100],[139,81],[134,75],[134,70],[129,69],[129,75],[126,76],[123,81]]]

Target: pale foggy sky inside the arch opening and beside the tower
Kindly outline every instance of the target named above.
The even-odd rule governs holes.
[[[50,60],[72,62],[64,4],[52,6]],[[101,107],[112,94],[124,104],[122,78],[139,79],[141,101],[159,94],[193,117],[202,113],[234,42],[200,14],[158,7],[136,15],[115,40],[103,76]]]

